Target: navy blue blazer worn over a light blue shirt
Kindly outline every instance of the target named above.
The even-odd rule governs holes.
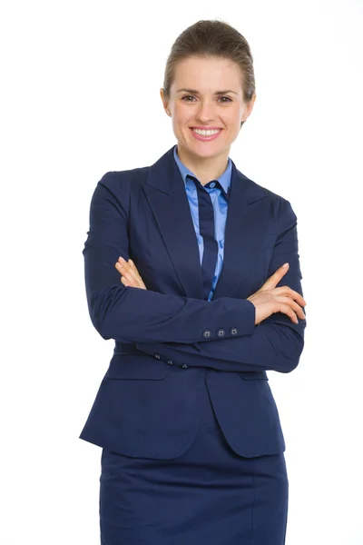
[[[277,312],[256,326],[246,298],[286,262],[279,285],[303,295],[289,201],[232,163],[224,262],[211,302],[203,300],[198,244],[172,149],[150,167],[103,175],[87,235],[91,320],[115,343],[81,439],[128,456],[180,456],[198,431],[205,380],[233,451],[285,451],[266,371],[296,368],[306,322]],[[123,286],[114,267],[120,255],[132,258],[147,290]]]

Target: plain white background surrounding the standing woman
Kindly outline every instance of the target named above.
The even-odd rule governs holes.
[[[2,4],[1,543],[99,543],[101,449],[78,435],[113,341],[86,306],[90,199],[103,173],[174,144],[164,64],[208,18],[254,56],[257,101],[231,158],[298,216],[306,344],[294,372],[269,373],[287,545],[363,543],[362,15],[358,0]]]

